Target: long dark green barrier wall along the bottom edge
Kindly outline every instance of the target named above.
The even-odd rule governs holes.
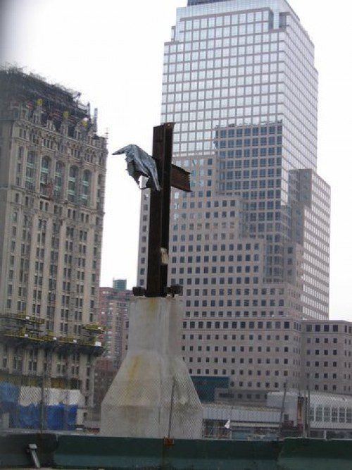
[[[30,443],[42,466],[61,469],[352,470],[351,440],[164,442],[50,433],[0,435],[0,467],[31,468]]]

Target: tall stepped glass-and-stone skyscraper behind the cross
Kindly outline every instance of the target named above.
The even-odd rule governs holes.
[[[316,173],[314,47],[284,0],[189,0],[165,43],[170,283],[189,373],[239,395],[301,386],[301,319],[328,319],[329,186]],[[146,283],[142,194],[139,285]],[[219,382],[219,383],[220,383]]]

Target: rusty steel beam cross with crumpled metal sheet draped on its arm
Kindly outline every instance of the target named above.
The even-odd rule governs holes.
[[[128,173],[137,183],[141,175],[145,176],[146,187],[151,189],[146,288],[134,287],[134,295],[165,297],[182,292],[180,286],[168,287],[170,193],[171,187],[191,192],[191,186],[189,172],[172,164],[173,128],[174,123],[153,128],[152,156],[137,145],[127,145],[114,153],[126,154]]]

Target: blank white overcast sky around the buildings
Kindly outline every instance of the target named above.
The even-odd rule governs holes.
[[[2,60],[82,92],[99,109],[110,154],[151,151],[160,123],[163,43],[187,0],[0,0]],[[291,0],[315,43],[320,74],[318,172],[332,187],[332,319],[352,320],[352,4]],[[1,35],[0,35],[1,37]],[[139,190],[122,156],[109,156],[101,285],[137,273]]]

